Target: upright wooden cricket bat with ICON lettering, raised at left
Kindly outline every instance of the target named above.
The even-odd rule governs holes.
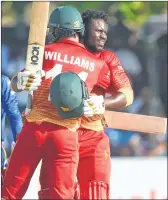
[[[47,32],[49,2],[33,2],[25,69],[37,72],[42,69]]]

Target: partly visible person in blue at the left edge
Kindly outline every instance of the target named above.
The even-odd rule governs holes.
[[[1,178],[3,179],[3,176],[5,174],[5,170],[7,167],[7,153],[5,148],[3,147],[3,142],[5,140],[5,121],[6,117],[8,117],[10,126],[12,129],[13,134],[13,142],[14,144],[16,142],[16,136],[18,133],[20,133],[23,121],[22,116],[18,108],[18,101],[16,97],[16,93],[11,90],[10,88],[10,80],[9,78],[2,74],[1,76],[1,103],[2,103],[2,109],[1,109]],[[11,144],[11,146],[12,146]]]

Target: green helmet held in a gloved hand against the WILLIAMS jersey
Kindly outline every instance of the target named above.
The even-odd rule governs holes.
[[[85,82],[73,72],[63,72],[51,82],[51,104],[63,119],[80,117],[84,112],[84,100],[88,98]]]

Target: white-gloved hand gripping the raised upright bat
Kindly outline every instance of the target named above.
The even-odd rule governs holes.
[[[17,74],[17,88],[19,90],[34,91],[41,85],[42,77],[45,75],[43,70],[32,73],[28,70]]]

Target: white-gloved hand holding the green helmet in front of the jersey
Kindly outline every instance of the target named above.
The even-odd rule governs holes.
[[[103,114],[105,111],[104,97],[90,96],[89,99],[84,100],[84,116],[92,117],[93,115]]]

